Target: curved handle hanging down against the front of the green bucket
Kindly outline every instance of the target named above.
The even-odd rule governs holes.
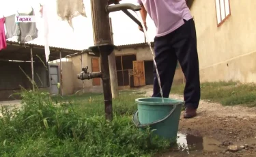
[[[160,123],[160,122],[165,121],[165,119],[169,118],[169,117],[171,116],[171,114],[173,113],[173,111],[175,111],[177,105],[178,105],[178,104],[173,104],[173,109],[171,109],[170,113],[169,113],[166,117],[164,117],[164,118],[162,118],[162,119],[160,119],[160,120],[157,120],[156,122],[151,122],[151,123],[149,123],[149,124],[141,124],[141,123],[139,122],[139,116],[138,116],[138,115],[139,115],[139,111],[137,110],[137,111],[133,114],[132,122],[135,124],[135,126],[137,126],[137,128],[145,128],[145,127],[147,127],[147,126],[152,126],[153,124],[158,124],[158,123]]]

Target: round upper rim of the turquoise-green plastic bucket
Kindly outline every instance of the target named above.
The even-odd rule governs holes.
[[[143,101],[145,99],[150,99],[150,98],[154,98],[154,99],[158,99],[158,100],[164,100],[164,102],[160,101],[160,102],[148,102],[148,101]],[[165,100],[167,100],[165,102]],[[170,102],[170,100],[172,100],[172,102]],[[177,99],[171,99],[171,98],[157,98],[157,97],[149,97],[149,98],[137,98],[135,99],[135,102],[137,104],[147,104],[147,105],[175,105],[175,104],[184,104],[185,102],[183,100],[177,100]]]

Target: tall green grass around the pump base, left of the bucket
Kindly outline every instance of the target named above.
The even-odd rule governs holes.
[[[0,156],[152,156],[169,143],[151,140],[131,121],[141,93],[113,100],[113,121],[104,118],[102,94],[51,98],[23,91],[23,109],[2,107]]]

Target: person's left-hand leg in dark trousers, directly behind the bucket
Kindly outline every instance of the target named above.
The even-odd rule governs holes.
[[[177,66],[175,51],[171,48],[169,35],[156,37],[154,41],[155,60],[158,68],[162,94],[164,98],[169,98],[173,76]],[[152,97],[161,97],[156,68],[154,68],[154,89]]]

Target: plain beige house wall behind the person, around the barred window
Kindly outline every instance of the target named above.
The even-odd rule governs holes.
[[[217,27],[215,0],[194,1],[201,82],[256,81],[255,6],[256,1],[230,0],[231,16]]]

